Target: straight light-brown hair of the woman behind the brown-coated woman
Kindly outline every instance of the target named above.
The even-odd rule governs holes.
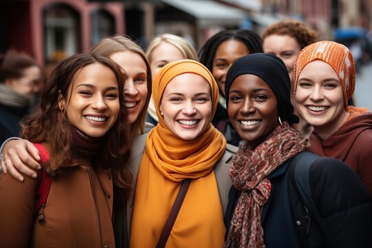
[[[134,41],[132,41],[130,38],[121,35],[115,35],[114,37],[102,39],[91,50],[91,52],[107,57],[110,57],[112,54],[115,54],[116,52],[125,51],[130,51],[138,54],[139,56],[141,56],[141,58],[146,64],[147,96],[145,99],[145,105],[143,105],[141,113],[138,115],[136,121],[134,121],[134,123],[132,123],[131,125],[132,136],[135,137],[145,132],[146,112],[147,106],[149,105],[149,99],[151,96],[152,87],[151,67],[146,59],[145,52],[143,52],[142,48],[139,45],[137,45]]]

